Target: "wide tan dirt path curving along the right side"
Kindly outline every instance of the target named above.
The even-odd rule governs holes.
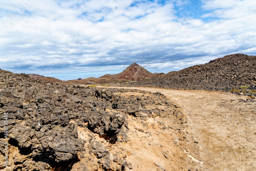
[[[256,170],[256,102],[221,92],[125,88],[161,92],[185,117],[185,168]]]

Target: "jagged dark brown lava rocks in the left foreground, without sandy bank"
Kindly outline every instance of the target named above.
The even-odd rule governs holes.
[[[123,170],[128,165],[132,167],[125,158],[116,160],[118,157],[113,154],[111,157],[108,146],[97,141],[94,134],[104,138],[110,146],[125,143],[129,141],[128,116],[145,119],[162,116],[165,111],[148,109],[146,105],[159,103],[166,109],[171,108],[166,111],[173,111],[173,114],[178,111],[162,94],[143,98],[117,95],[124,92],[139,91],[70,86],[0,70],[1,159],[5,155],[3,116],[8,113],[10,170]],[[82,130],[83,136],[88,134],[88,138],[79,138],[78,130]],[[116,169],[113,169],[115,163]]]

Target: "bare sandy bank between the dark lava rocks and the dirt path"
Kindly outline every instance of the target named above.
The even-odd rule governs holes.
[[[151,96],[150,93],[117,93],[124,97],[147,97]],[[163,99],[163,98],[162,98]],[[101,142],[110,152],[110,158],[115,160],[118,164],[112,162],[111,170],[135,170],[135,171],[155,171],[155,170],[188,170],[186,165],[186,154],[184,153],[184,147],[181,146],[179,137],[183,137],[184,125],[177,122],[177,116],[175,111],[180,114],[180,108],[175,108],[173,103],[168,105],[159,104],[161,100],[156,100],[154,104],[148,104],[145,106],[147,109],[160,109],[164,112],[161,116],[158,116],[154,112],[151,117],[135,117],[132,115],[127,116],[129,129],[124,128],[127,134],[127,142],[116,142],[110,144],[108,141],[100,137],[96,133],[92,133],[89,130],[85,130],[83,127],[78,126],[78,137],[86,142],[86,146],[89,143],[90,137],[93,137],[96,141]],[[110,113],[117,111],[113,109],[106,109]],[[174,114],[175,113],[175,114]],[[146,116],[145,113],[140,113]],[[181,115],[179,115],[181,116]],[[85,163],[89,170],[97,169],[97,159],[89,153],[85,153],[84,158],[81,159],[82,163]],[[122,160],[126,160],[128,166],[121,168],[119,164]],[[90,162],[87,162],[90,161]],[[95,164],[96,163],[96,164]]]

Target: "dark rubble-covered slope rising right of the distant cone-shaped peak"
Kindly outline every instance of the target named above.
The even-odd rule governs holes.
[[[229,91],[234,87],[256,84],[256,56],[227,55],[204,65],[140,80],[133,86],[188,90]]]

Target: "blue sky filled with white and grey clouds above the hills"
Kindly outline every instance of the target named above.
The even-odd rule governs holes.
[[[256,55],[255,0],[2,0],[0,68],[70,80]]]

